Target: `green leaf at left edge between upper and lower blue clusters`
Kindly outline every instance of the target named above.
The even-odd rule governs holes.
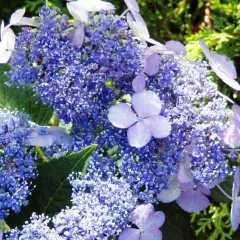
[[[30,86],[18,88],[6,86],[8,81],[4,75],[9,70],[8,65],[0,65],[0,107],[11,110],[18,110],[30,116],[30,120],[39,125],[47,125],[53,110],[39,100]]]

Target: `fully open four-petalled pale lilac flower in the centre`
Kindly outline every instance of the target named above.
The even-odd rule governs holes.
[[[166,117],[159,115],[162,103],[153,91],[135,93],[131,106],[118,103],[109,109],[108,119],[117,128],[128,128],[127,136],[130,146],[141,148],[152,137],[165,138],[170,135],[171,124]]]

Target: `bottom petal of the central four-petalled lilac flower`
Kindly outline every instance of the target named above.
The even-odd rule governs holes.
[[[129,145],[136,148],[146,146],[152,138],[149,129],[141,122],[137,122],[128,129]]]

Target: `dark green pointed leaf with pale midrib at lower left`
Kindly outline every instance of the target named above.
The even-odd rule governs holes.
[[[97,145],[91,145],[81,152],[54,159],[38,166],[38,174],[34,184],[29,205],[23,207],[19,214],[7,218],[10,227],[21,226],[33,212],[54,216],[66,206],[71,206],[72,188],[68,181],[73,172],[86,172],[88,159]]]

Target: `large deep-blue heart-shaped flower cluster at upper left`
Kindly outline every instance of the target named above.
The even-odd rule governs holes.
[[[131,89],[142,68],[143,46],[127,31],[125,20],[101,12],[90,16],[79,49],[72,41],[75,25],[58,13],[43,7],[38,28],[21,32],[11,57],[10,83],[34,84],[59,119],[96,130],[106,106]]]

